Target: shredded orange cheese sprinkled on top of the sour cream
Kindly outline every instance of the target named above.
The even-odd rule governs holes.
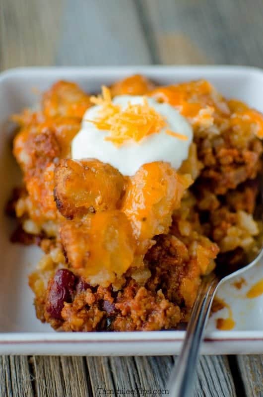
[[[149,106],[146,98],[142,104],[128,104],[126,109],[112,102],[109,88],[102,86],[102,95],[92,96],[91,103],[100,105],[96,120],[87,120],[95,124],[99,130],[108,130],[109,136],[105,140],[110,140],[116,145],[121,145],[131,139],[138,142],[145,136],[160,132],[167,123],[154,108]],[[170,130],[168,134],[179,139],[187,140],[185,135]]]

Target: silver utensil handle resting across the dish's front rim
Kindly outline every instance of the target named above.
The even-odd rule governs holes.
[[[183,347],[166,388],[171,397],[192,396],[203,331],[218,284],[219,280],[216,276],[208,275],[203,277],[198,288]]]

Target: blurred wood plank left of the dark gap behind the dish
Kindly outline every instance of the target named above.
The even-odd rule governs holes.
[[[151,63],[130,0],[2,0],[0,69]]]

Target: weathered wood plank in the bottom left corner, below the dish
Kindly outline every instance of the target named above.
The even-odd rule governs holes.
[[[0,357],[0,396],[34,396],[33,377],[26,356]]]

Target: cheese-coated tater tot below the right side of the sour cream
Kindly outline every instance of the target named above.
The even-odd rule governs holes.
[[[144,164],[130,179],[122,210],[143,250],[153,236],[168,232],[172,212],[189,185],[190,177],[177,174],[169,163],[161,161]]]

